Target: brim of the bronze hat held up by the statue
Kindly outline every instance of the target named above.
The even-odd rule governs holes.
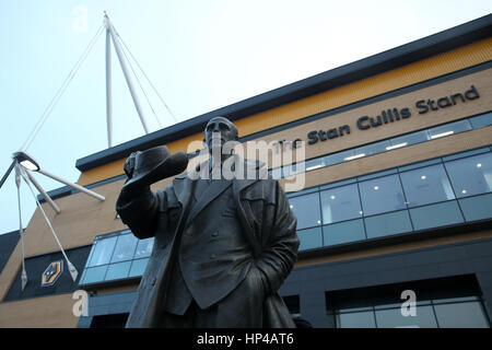
[[[124,186],[124,189],[131,190],[150,186],[161,179],[172,177],[183,173],[188,166],[188,156],[185,152],[179,151],[171,154],[161,163],[155,165],[149,172],[139,174],[130,178]]]

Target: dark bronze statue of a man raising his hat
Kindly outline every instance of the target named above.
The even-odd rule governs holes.
[[[237,156],[212,152],[237,140],[229,119],[211,119],[204,130],[211,155],[195,172],[210,175]],[[241,162],[245,173],[260,166]],[[125,163],[129,179],[116,210],[138,238],[155,237],[127,327],[294,327],[278,289],[300,242],[279,183],[188,173],[151,191],[150,184],[181,173],[187,163],[184,152],[169,154],[165,147]]]

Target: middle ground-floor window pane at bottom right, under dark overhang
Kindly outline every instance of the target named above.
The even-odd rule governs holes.
[[[415,316],[403,316],[401,308],[377,310],[377,328],[437,328],[432,306],[417,306]]]

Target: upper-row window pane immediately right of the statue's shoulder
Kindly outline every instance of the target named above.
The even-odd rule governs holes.
[[[297,230],[321,224],[318,192],[290,198],[289,203],[297,218]]]

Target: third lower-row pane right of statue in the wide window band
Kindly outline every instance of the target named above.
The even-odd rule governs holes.
[[[364,221],[367,238],[412,231],[412,224],[407,210],[368,217]]]

